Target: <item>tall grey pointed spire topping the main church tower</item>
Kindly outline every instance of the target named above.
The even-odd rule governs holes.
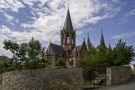
[[[66,16],[66,19],[65,19],[63,29],[64,30],[73,30],[73,25],[72,25],[72,21],[71,21],[71,17],[70,17],[69,8],[68,8],[68,11],[67,11],[67,16]]]

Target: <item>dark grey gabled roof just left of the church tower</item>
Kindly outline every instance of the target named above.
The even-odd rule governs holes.
[[[65,54],[63,47],[52,43],[49,44],[46,52],[48,55],[56,55],[56,56],[61,56]]]

